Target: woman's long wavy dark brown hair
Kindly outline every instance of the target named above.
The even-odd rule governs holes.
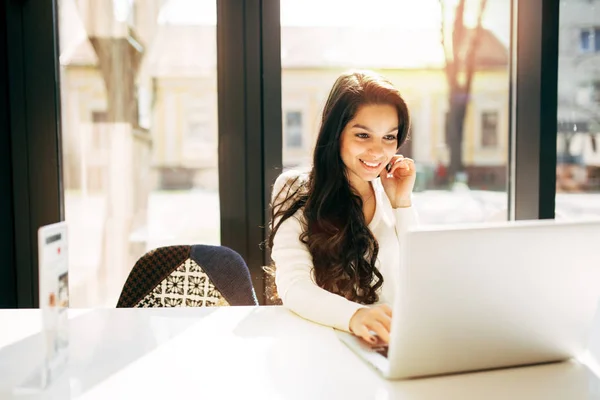
[[[367,227],[362,199],[351,187],[340,155],[342,131],[367,104],[394,106],[399,123],[397,148],[405,142],[410,119],[399,91],[373,72],[341,75],[323,110],[308,179],[296,178],[274,196],[268,243],[272,248],[283,221],[303,209],[299,239],[312,255],[317,285],[349,300],[372,304],[379,300],[377,290],[383,284],[375,266],[379,245]]]

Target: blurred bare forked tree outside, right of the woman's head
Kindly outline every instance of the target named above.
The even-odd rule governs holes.
[[[466,0],[458,0],[452,26],[452,40],[446,40],[447,0],[439,0],[441,9],[441,43],[445,56],[448,83],[448,112],[446,114],[446,143],[450,150],[448,175],[451,179],[464,170],[462,162],[463,126],[476,67],[476,54],[483,33],[482,19],[487,0],[479,0],[475,29],[465,26]]]

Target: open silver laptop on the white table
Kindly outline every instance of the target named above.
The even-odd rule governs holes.
[[[585,350],[600,220],[421,227],[402,241],[389,347],[336,331],[388,379],[538,364]]]

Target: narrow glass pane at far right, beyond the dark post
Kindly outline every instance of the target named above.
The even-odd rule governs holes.
[[[556,218],[600,217],[600,1],[560,2]]]

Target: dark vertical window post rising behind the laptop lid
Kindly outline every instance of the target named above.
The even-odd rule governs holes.
[[[553,219],[560,0],[512,5],[508,219]]]

